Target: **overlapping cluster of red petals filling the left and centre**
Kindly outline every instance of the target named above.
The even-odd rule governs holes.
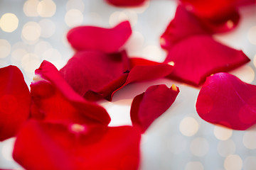
[[[150,86],[132,102],[132,126],[108,126],[105,108],[87,98],[111,100],[129,83],[166,77],[173,70],[169,64],[129,59],[119,50],[130,34],[125,26],[129,23],[112,28],[123,27],[120,32],[92,26],[70,30],[75,55],[60,71],[43,61],[31,91],[17,67],[0,69],[0,140],[16,137],[13,157],[23,168],[139,169],[141,134],[174,103],[179,89]],[[85,39],[87,33],[102,35],[102,45]],[[111,33],[117,38],[105,47]]]

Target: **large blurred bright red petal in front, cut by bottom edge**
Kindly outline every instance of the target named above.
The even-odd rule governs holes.
[[[134,170],[139,166],[139,142],[138,130],[128,126],[87,134],[79,128],[30,121],[17,136],[13,156],[28,170]]]

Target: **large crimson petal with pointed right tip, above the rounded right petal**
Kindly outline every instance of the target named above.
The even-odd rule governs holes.
[[[169,77],[193,86],[199,86],[206,77],[217,72],[229,72],[249,62],[240,50],[216,42],[212,37],[198,35],[176,44],[165,62],[174,64]]]

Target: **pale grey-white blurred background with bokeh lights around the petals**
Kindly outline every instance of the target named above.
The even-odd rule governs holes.
[[[174,0],[152,0],[138,8],[117,8],[103,0],[0,0],[0,67],[18,66],[29,85],[43,60],[60,69],[72,57],[74,52],[65,38],[70,28],[110,28],[127,19],[133,29],[124,47],[129,55],[162,62],[166,52],[161,50],[159,37],[174,17],[176,6]],[[232,74],[256,84],[256,7],[240,8],[240,13],[238,28],[215,38],[250,57],[249,64]],[[111,103],[100,104],[112,117],[110,125],[130,125],[134,96],[153,84],[174,83],[181,93],[142,137],[141,169],[256,169],[256,126],[238,131],[201,120],[195,109],[199,89],[159,79],[131,84],[114,94]],[[0,142],[0,169],[22,169],[11,158],[14,140]]]

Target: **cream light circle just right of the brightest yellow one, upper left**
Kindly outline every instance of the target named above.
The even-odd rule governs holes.
[[[28,22],[23,26],[22,36],[28,41],[34,42],[38,40],[41,35],[41,28],[38,23]]]

